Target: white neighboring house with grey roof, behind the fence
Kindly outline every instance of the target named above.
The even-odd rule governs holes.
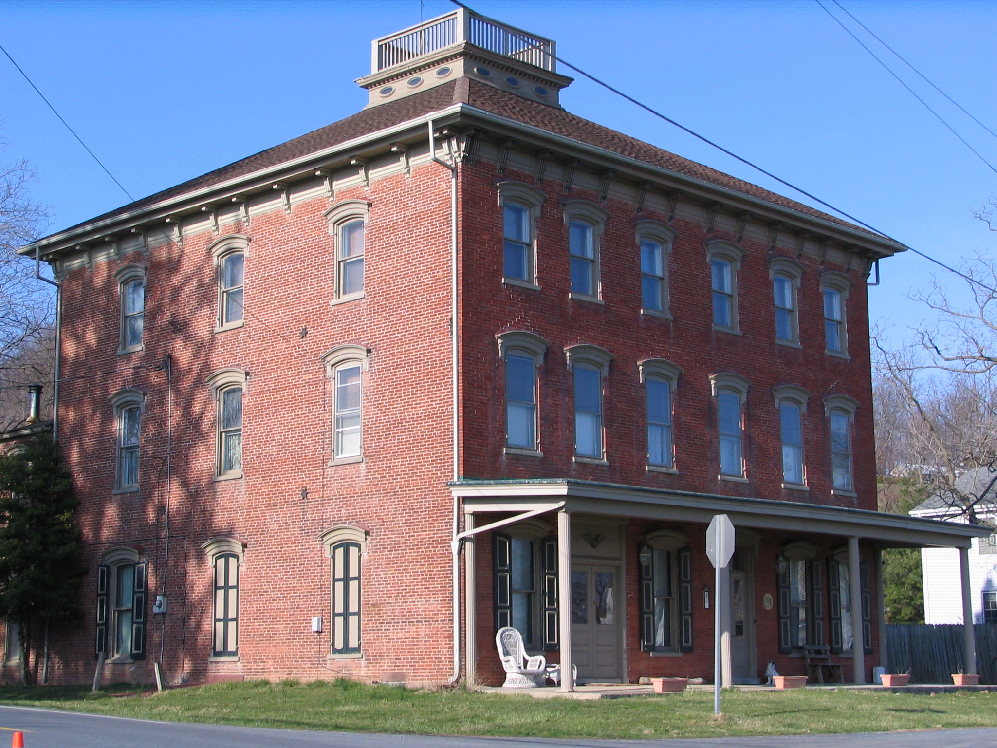
[[[978,523],[997,526],[997,469],[975,468],[959,476],[954,491],[933,494],[910,510],[911,517],[968,523],[957,496],[975,501]],[[921,549],[924,580],[924,622],[962,623],[962,589],[959,551],[954,548]],[[973,622],[997,623],[997,535],[977,538],[969,549],[969,579]]]

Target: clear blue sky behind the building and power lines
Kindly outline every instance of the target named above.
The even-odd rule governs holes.
[[[997,3],[839,2],[997,132]],[[971,215],[997,192],[997,174],[816,2],[470,4],[553,38],[572,64],[943,261],[997,246],[997,234]],[[0,44],[138,197],[353,114],[366,101],[353,81],[369,72],[370,40],[452,7],[6,0]],[[997,139],[876,51],[997,166]],[[801,198],[587,81],[562,104]],[[127,201],[4,58],[0,122],[8,144],[0,161],[25,158],[37,169],[33,195],[52,207],[52,229]],[[909,252],[883,262],[882,284],[870,289],[873,320],[896,335],[916,323],[924,310],[906,294],[936,272],[944,277]]]

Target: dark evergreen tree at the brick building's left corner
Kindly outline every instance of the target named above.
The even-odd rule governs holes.
[[[46,665],[50,623],[78,617],[80,530],[73,522],[78,501],[69,471],[52,437],[41,434],[22,450],[0,457],[0,617],[21,626],[21,680],[36,626],[44,631]],[[37,674],[38,657],[35,657]]]

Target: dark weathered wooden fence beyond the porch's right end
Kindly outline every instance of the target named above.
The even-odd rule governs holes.
[[[973,629],[980,683],[997,683],[997,624],[977,623]],[[886,652],[889,671],[909,670],[911,683],[951,683],[952,673],[965,669],[961,624],[890,623]]]

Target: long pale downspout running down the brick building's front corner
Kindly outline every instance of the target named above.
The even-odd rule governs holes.
[[[458,232],[457,232],[457,160],[451,153],[451,161],[448,164],[436,155],[436,134],[433,129],[433,120],[428,123],[430,135],[430,157],[442,167],[450,172],[450,262],[451,262],[451,306],[450,306],[450,355],[451,355],[451,405],[453,408],[453,480],[461,479],[461,434],[460,434],[460,349],[458,338]],[[461,678],[461,540],[458,538],[461,532],[460,499],[454,497],[454,523],[453,536],[450,544],[453,556],[453,597],[454,597],[454,673],[447,681],[447,685],[454,685]]]

